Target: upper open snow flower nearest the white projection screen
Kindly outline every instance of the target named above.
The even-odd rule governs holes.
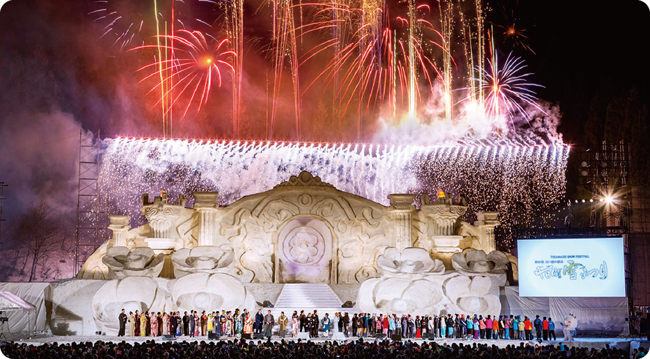
[[[493,250],[485,254],[483,250],[468,250],[467,253],[454,253],[452,266],[466,276],[498,276],[508,269],[508,259],[505,253]]]

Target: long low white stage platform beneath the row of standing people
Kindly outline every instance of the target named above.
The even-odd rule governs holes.
[[[285,337],[285,338],[280,338],[276,335],[271,337],[271,340],[274,342],[279,342],[280,340],[284,339],[285,341],[291,341],[294,340],[292,337]],[[609,344],[611,347],[617,347],[620,349],[627,349],[631,350],[634,348],[639,348],[639,346],[642,346],[646,349],[650,348],[650,342],[645,340],[645,337],[576,337],[574,338],[575,340],[573,342],[565,342],[563,340],[550,340],[550,341],[544,341],[541,343],[541,345],[559,345],[560,342],[564,344],[564,346],[568,346],[569,348],[575,346],[575,347],[586,347],[586,348],[596,348],[596,349],[602,349],[605,348],[606,345]],[[69,335],[69,336],[47,336],[47,337],[39,337],[39,338],[32,338],[32,339],[24,339],[24,340],[16,340],[16,342],[22,342],[26,344],[33,344],[33,345],[40,345],[40,344],[45,344],[45,343],[53,343],[57,342],[59,344],[61,343],[70,343],[70,342],[97,342],[97,341],[103,341],[103,342],[122,342],[124,340],[125,342],[129,343],[135,343],[135,342],[145,342],[147,340],[154,340],[154,342],[161,343],[164,340],[162,337],[116,337],[116,336],[111,336],[111,335]],[[220,340],[239,340],[239,337],[221,337]],[[353,341],[353,340],[358,340],[358,337],[349,337],[345,342]],[[363,338],[364,341],[374,341],[374,337],[365,337]],[[408,340],[408,339],[407,339]],[[209,339],[207,336],[199,336],[199,337],[177,337],[176,338],[177,342],[209,342]],[[312,342],[326,342],[329,341],[331,342],[331,338],[323,338],[323,337],[318,337],[315,339],[311,340]],[[257,340],[255,340],[257,342]],[[503,348],[507,345],[516,345],[518,346],[522,341],[521,340],[459,340],[459,339],[447,339],[447,338],[437,338],[436,340],[422,340],[422,339],[411,339],[411,342],[417,342],[419,344],[422,344],[422,342],[437,342],[438,344],[452,344],[452,343],[457,343],[457,344],[473,344],[473,343],[480,343],[480,344],[489,344],[489,345],[496,345],[500,348]],[[538,345],[539,343],[537,341],[523,341],[524,344],[530,344],[530,345]]]

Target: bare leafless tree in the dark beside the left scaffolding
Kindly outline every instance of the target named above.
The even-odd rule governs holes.
[[[26,263],[31,264],[29,282],[35,280],[36,269],[45,264],[51,255],[61,248],[64,240],[61,221],[51,207],[41,202],[18,221],[18,239],[27,249]]]

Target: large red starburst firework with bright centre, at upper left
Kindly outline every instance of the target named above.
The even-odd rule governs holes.
[[[162,95],[154,106],[161,104],[166,99],[171,103],[165,106],[166,111],[172,111],[181,97],[187,96],[187,106],[182,118],[187,115],[190,106],[196,102],[196,111],[207,102],[213,82],[221,87],[223,83],[223,70],[235,74],[235,67],[231,62],[237,58],[234,51],[228,49],[228,39],[216,40],[199,31],[179,30],[176,35],[159,35],[158,42],[164,40],[163,45],[143,45],[134,49],[155,48],[163,49],[165,53],[173,54],[166,60],[156,60],[141,67],[139,72],[150,72],[141,81],[146,81],[155,76],[161,76],[160,81],[150,90],[161,90]],[[172,45],[173,44],[173,45]],[[225,67],[225,68],[221,68]],[[176,79],[171,86],[164,87],[166,83]],[[167,115],[167,113],[164,113]]]

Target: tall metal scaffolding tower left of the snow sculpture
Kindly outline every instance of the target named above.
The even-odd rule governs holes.
[[[108,218],[99,191],[100,141],[92,132],[79,132],[79,190],[74,246],[74,276],[106,240]]]

